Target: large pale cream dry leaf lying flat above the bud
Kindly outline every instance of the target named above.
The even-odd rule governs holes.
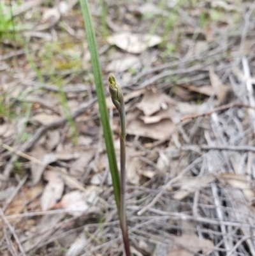
[[[153,34],[131,34],[129,32],[117,33],[107,38],[110,45],[117,45],[131,54],[140,54],[147,48],[161,43],[162,38]]]

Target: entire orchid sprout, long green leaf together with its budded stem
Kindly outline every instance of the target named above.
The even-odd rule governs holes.
[[[110,127],[110,121],[108,117],[108,109],[106,107],[105,90],[103,86],[103,76],[101,72],[101,66],[99,62],[98,47],[96,44],[96,36],[94,27],[92,26],[91,11],[89,10],[89,4],[87,0],[80,0],[82,7],[82,15],[84,17],[85,31],[87,34],[87,41],[89,45],[89,51],[91,53],[91,64],[94,75],[94,82],[96,84],[96,94],[98,96],[98,105],[101,123],[103,126],[103,134],[105,138],[106,152],[108,156],[108,162],[110,165],[110,172],[112,176],[113,192],[115,195],[115,202],[117,211],[120,219],[120,228],[122,230],[122,237],[124,241],[124,249],[126,256],[131,256],[128,239],[128,227],[126,224],[126,213],[125,213],[125,162],[126,162],[126,121],[125,121],[125,109],[123,94],[120,87],[117,85],[113,75],[109,77],[110,93],[113,99],[115,107],[117,107],[120,115],[120,176],[117,167],[116,153],[113,145],[112,130]]]

